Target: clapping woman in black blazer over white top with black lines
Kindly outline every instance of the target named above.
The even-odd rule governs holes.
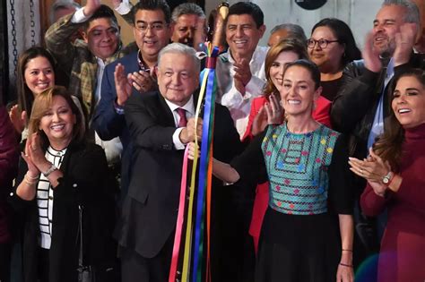
[[[35,97],[22,159],[13,201],[26,214],[24,280],[77,281],[79,206],[85,262],[95,265],[107,258],[113,205],[105,154],[84,141],[81,112],[64,88]]]

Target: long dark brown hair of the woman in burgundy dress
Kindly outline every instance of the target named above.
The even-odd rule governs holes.
[[[402,77],[414,77],[416,80],[421,82],[422,87],[425,88],[425,71],[421,69],[411,69],[398,76],[390,87],[391,99],[389,105],[392,105],[394,96],[392,95],[397,82]],[[425,110],[425,109],[424,109]],[[400,166],[400,159],[402,158],[404,141],[404,129],[402,124],[395,117],[393,110],[390,111],[390,115],[386,117],[384,125],[384,133],[379,136],[379,139],[373,144],[373,150],[375,153],[388,161],[391,168],[398,171]]]

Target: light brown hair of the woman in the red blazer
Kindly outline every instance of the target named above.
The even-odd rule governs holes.
[[[294,52],[299,56],[299,59],[308,59],[306,43],[298,38],[285,38],[273,47],[270,47],[267,56],[265,56],[265,79],[267,82],[265,83],[264,94],[266,97],[273,93],[279,93],[279,90],[274,86],[272,78],[270,77],[270,68],[274,60],[284,51]]]

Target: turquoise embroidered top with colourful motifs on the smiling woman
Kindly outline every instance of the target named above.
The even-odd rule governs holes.
[[[338,136],[324,125],[303,134],[289,132],[286,123],[268,127],[262,150],[272,209],[294,215],[327,211],[327,168]]]

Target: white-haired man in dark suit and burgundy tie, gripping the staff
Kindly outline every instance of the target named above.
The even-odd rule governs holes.
[[[134,164],[117,228],[124,282],[134,277],[140,281],[168,278],[183,153],[186,144],[195,141],[195,132],[202,135],[202,120],[195,127],[194,118],[199,68],[195,49],[170,44],[160,51],[156,69],[159,91],[132,95],[126,101]],[[125,84],[125,77],[118,78],[117,91]],[[230,160],[240,147],[229,110],[220,105],[215,106],[213,145],[214,158],[223,160]],[[212,201],[225,201],[220,195],[225,189],[214,188]],[[212,204],[212,221],[214,210],[219,208]]]

